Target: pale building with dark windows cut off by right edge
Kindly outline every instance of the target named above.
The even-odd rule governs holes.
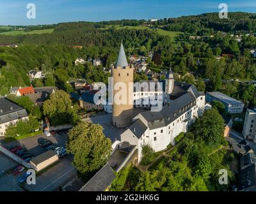
[[[245,139],[253,140],[256,143],[256,108],[246,110],[243,136]]]

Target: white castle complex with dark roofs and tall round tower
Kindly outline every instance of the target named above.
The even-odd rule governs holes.
[[[175,137],[186,133],[196,117],[204,113],[204,92],[198,92],[195,85],[175,82],[171,68],[163,81],[134,84],[133,67],[127,62],[123,45],[118,61],[112,68],[112,75],[113,87],[118,82],[124,82],[127,87],[132,84],[134,88],[125,93],[126,104],[120,105],[113,100],[113,125],[127,128],[120,137],[121,142],[136,146],[139,162],[143,145],[150,145],[156,152],[166,149],[169,144],[175,145]],[[113,90],[114,98],[120,90]],[[133,101],[129,101],[131,99]],[[156,106],[156,101],[163,108],[159,111],[149,110]],[[140,108],[141,112],[135,113],[136,108]]]

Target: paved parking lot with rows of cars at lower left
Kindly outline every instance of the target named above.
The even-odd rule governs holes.
[[[6,148],[13,147],[13,145],[24,147],[29,153],[36,157],[47,151],[45,148],[38,145],[38,139],[40,138],[51,140],[52,143],[65,147],[67,134],[62,133],[61,135],[56,134],[49,137],[37,135],[19,141],[10,143],[1,141],[1,143]],[[0,191],[23,191],[17,180],[24,175],[26,171],[22,171],[19,175],[12,174],[13,169],[19,165],[20,164],[9,157],[0,153],[0,169],[2,168],[5,171],[3,177],[0,177]],[[61,158],[58,163],[45,168],[42,172],[38,172],[36,174],[36,185],[24,184],[23,188],[28,191],[55,191],[58,187],[64,186],[70,179],[73,179],[76,176],[76,169],[72,166],[72,156],[69,155],[65,158]]]

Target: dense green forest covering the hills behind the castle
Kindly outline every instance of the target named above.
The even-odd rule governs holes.
[[[130,25],[136,28],[137,25],[145,24],[161,27],[170,32],[182,32],[173,42],[170,36],[163,36],[153,29],[113,27],[100,29],[108,25]],[[200,91],[220,91],[226,87],[236,90],[237,84],[225,86],[223,80],[256,79],[256,58],[250,53],[250,50],[256,47],[256,38],[252,33],[255,30],[255,15],[252,13],[228,13],[228,19],[219,19],[218,13],[206,13],[164,18],[156,22],[145,20],[68,22],[48,27],[38,25],[26,29],[40,27],[54,28],[54,31],[44,34],[0,35],[0,43],[19,45],[17,48],[0,48],[0,94],[6,94],[10,86],[29,85],[31,82],[27,73],[31,69],[40,69],[49,76],[45,79],[46,82],[34,84],[56,84],[65,91],[71,91],[70,87],[63,83],[70,78],[83,77],[90,81],[102,79],[103,82],[107,82],[108,76],[104,75],[103,67],[93,68],[92,63],[75,66],[74,61],[77,57],[83,59],[100,57],[102,65],[109,68],[116,61],[121,41],[124,43],[127,56],[130,54],[148,56],[152,52],[152,59],[147,61],[152,71],[160,72],[168,69],[172,62],[173,71],[179,73],[182,80],[196,84]],[[239,34],[241,41],[237,41],[234,33]],[[193,35],[209,36],[209,34],[214,37],[199,40],[189,38]],[[72,48],[76,45],[83,48]],[[229,55],[220,59],[223,54]],[[134,80],[140,80],[140,75],[135,77]],[[145,78],[145,75],[141,78]],[[209,81],[205,84],[200,78]],[[241,94],[243,96],[244,93]],[[241,94],[238,98],[242,98]]]

